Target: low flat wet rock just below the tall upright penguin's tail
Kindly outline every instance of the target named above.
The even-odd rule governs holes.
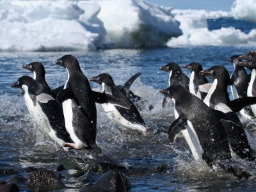
[[[105,173],[109,170],[118,169],[118,170],[127,170],[125,166],[106,163],[101,161],[96,161],[93,159],[81,159],[78,157],[66,157],[60,159],[60,163],[65,166],[68,170],[81,170],[84,172],[96,172],[96,173]]]

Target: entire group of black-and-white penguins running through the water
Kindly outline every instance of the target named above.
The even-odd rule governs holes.
[[[203,69],[198,62],[182,66],[191,72],[188,77],[177,63],[170,62],[159,67],[169,73],[168,88],[159,92],[164,96],[163,108],[168,108],[170,100],[174,104],[175,121],[167,132],[171,143],[181,132],[195,160],[202,159],[211,168],[218,166],[239,178],[248,177],[246,172],[223,162],[231,162],[232,153],[246,161],[256,159],[240,121],[241,116],[248,120],[256,116],[256,51],[232,56],[228,61],[235,67],[231,77],[221,65]],[[116,85],[107,73],[84,76],[72,55],[62,56],[55,63],[67,70],[64,85],[51,89],[45,81],[44,65],[36,61],[23,66],[33,72],[33,77],[22,76],[11,86],[23,90],[33,120],[65,150],[84,150],[87,158],[112,162],[96,144],[95,103],[102,105],[115,124],[146,136],[152,134],[140,114],[141,103],[148,101],[130,90],[141,73],[124,85]],[[252,73],[248,75],[244,67]],[[90,81],[100,84],[101,92],[93,91]]]

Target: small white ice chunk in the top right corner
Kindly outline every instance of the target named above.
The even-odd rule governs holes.
[[[231,13],[235,19],[256,22],[256,0],[234,1]]]

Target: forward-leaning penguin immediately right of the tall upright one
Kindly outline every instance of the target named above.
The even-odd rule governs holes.
[[[89,80],[102,84],[102,93],[113,95],[113,97],[127,102],[131,107],[130,109],[124,109],[110,103],[104,103],[102,104],[102,108],[106,111],[109,118],[111,118],[116,124],[120,124],[129,129],[135,129],[146,134],[148,128],[144,120],[141,118],[140,112],[131,100],[129,100],[127,95],[125,95],[125,93],[115,85],[113,78],[109,74],[99,74],[99,76],[90,77]]]

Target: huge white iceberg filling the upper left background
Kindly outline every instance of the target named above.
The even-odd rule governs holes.
[[[0,51],[152,47],[181,35],[170,9],[143,0],[0,1]]]

